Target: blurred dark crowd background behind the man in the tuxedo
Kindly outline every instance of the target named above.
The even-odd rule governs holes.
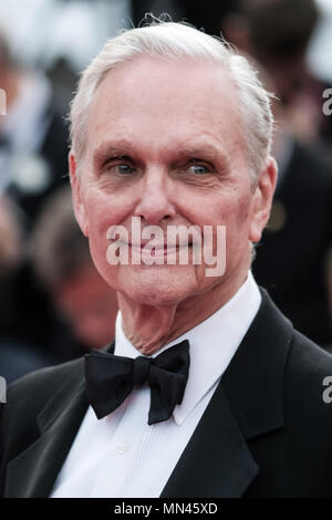
[[[113,340],[116,297],[72,212],[64,118],[80,71],[146,12],[221,34],[276,93],[279,180],[252,271],[297,329],[331,349],[332,0],[0,0],[0,374],[8,382]]]

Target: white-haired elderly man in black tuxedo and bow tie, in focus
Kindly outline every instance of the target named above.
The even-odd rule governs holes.
[[[71,117],[74,209],[118,293],[115,344],[9,389],[3,496],[331,496],[332,360],[250,272],[277,168],[248,62],[184,24],[133,29],[84,72]],[[167,243],[170,227],[196,240]]]

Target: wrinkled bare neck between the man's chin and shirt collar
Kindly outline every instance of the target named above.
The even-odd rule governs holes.
[[[123,331],[142,354],[153,355],[224,306],[243,284],[247,273],[248,269],[236,280],[231,278],[231,283],[222,279],[209,291],[169,306],[136,303],[118,293]]]

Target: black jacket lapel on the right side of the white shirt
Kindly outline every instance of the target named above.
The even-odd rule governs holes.
[[[291,323],[266,291],[160,497],[240,497],[259,472],[247,440],[283,426]]]

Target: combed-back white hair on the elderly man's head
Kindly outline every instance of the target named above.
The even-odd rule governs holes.
[[[84,156],[89,105],[111,70],[141,55],[159,56],[164,60],[191,58],[221,64],[229,71],[238,92],[250,174],[253,179],[257,178],[270,154],[273,126],[271,94],[261,84],[257,72],[248,60],[221,39],[185,23],[151,18],[149,24],[126,30],[107,40],[82,73],[70,113],[72,149],[77,162]]]

